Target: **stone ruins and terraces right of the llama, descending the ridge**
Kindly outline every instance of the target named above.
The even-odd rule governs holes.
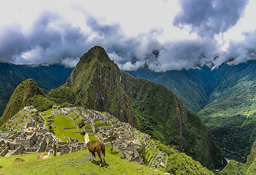
[[[136,150],[136,148],[140,148],[141,142],[143,142],[146,145],[146,155],[148,155],[146,166],[153,167],[153,164],[155,168],[165,166],[167,157],[164,157],[160,150],[158,150],[149,135],[137,131],[137,129],[133,128],[129,123],[120,122],[109,113],[81,108],[73,108],[72,110],[79,113],[81,119],[87,122],[89,121],[88,123],[91,124],[96,138],[105,143],[105,145],[110,145],[110,142],[106,141],[109,136],[115,136],[117,139],[113,148],[123,156],[123,159],[143,164],[143,160]],[[99,128],[97,133],[95,133],[96,127]],[[138,139],[137,136],[140,139]]]

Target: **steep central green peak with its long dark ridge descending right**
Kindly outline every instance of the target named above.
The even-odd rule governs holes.
[[[27,101],[39,110],[55,103],[107,111],[210,169],[224,166],[222,150],[197,114],[187,110],[172,90],[120,71],[99,46],[80,58],[63,86]]]

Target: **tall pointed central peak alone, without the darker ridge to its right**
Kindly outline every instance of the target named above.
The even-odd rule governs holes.
[[[134,124],[132,111],[128,110],[132,107],[122,85],[122,71],[102,47],[92,47],[80,58],[65,86],[74,92],[77,104],[108,111],[121,121]]]

